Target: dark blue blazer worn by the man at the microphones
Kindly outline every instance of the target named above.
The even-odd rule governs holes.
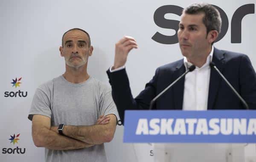
[[[248,56],[214,48],[212,61],[230,84],[256,109],[256,73]],[[125,69],[113,73],[107,71],[112,87],[113,100],[123,122],[125,110],[149,109],[150,101],[186,71],[183,59],[158,67],[145,89],[133,98]],[[157,99],[154,109],[181,110],[184,92],[183,77],[172,88]],[[212,68],[210,72],[207,109],[244,109],[244,106],[224,80]]]

